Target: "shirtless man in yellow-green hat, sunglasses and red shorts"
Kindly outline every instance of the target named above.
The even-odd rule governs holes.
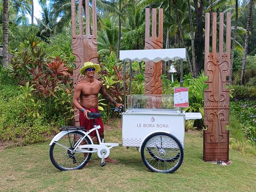
[[[80,126],[84,127],[86,130],[93,128],[93,119],[88,119],[87,113],[99,113],[98,110],[98,93],[102,94],[108,102],[113,103],[116,107],[123,106],[117,103],[108,93],[106,93],[101,81],[94,78],[94,75],[100,70],[99,64],[94,64],[92,62],[85,62],[84,66],[81,68],[80,73],[86,78],[80,81],[75,88],[73,104],[80,111],[79,112],[79,122]],[[80,99],[80,102],[78,100]],[[97,125],[101,128],[99,131],[99,136],[104,138],[104,127],[101,118],[95,119]],[[96,131],[90,134],[91,137],[96,138]],[[106,162],[116,163],[116,160],[107,157]]]

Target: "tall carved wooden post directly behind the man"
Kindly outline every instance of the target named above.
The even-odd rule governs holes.
[[[89,0],[85,0],[85,17],[86,17],[86,32],[83,33],[83,6],[82,0],[79,0],[79,32],[76,34],[76,0],[71,1],[72,11],[72,48],[73,55],[76,57],[76,69],[73,71],[74,87],[81,81],[84,76],[80,74],[80,69],[84,62],[91,61],[98,63],[97,59],[97,19],[96,19],[96,0],[93,0],[93,29],[90,35],[90,12]],[[79,126],[79,111],[75,108],[75,126]]]

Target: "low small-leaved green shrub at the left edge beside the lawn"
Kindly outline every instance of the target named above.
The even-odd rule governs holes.
[[[2,76],[3,74],[0,74],[0,79]],[[5,78],[9,77],[5,76]],[[13,80],[9,78],[8,81]],[[47,123],[46,114],[41,114],[39,117],[36,113],[34,116],[32,113],[28,114],[26,108],[29,105],[33,108],[35,102],[31,100],[32,96],[29,92],[32,87],[23,88],[25,90],[13,84],[0,84],[0,140],[14,142],[22,140],[26,145],[45,140],[45,136],[51,133],[52,127]],[[29,112],[31,111],[32,109],[29,109]]]

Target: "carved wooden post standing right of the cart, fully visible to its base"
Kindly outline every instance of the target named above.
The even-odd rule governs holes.
[[[229,161],[229,102],[230,91],[226,89],[230,76],[230,13],[227,13],[226,51],[224,52],[224,14],[220,13],[219,48],[216,47],[217,14],[212,15],[212,52],[209,52],[210,14],[205,16],[204,72],[209,85],[204,90],[204,161]]]

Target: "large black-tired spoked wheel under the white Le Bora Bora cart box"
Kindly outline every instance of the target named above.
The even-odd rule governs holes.
[[[180,141],[171,134],[159,132],[148,136],[141,147],[141,158],[153,172],[172,173],[184,157]]]

